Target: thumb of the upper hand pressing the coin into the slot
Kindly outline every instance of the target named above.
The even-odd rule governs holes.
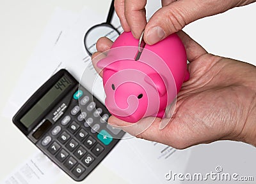
[[[182,0],[163,6],[148,21],[145,27],[145,42],[148,45],[153,45],[166,38],[166,36],[180,31],[190,22],[220,13],[220,11],[225,11],[227,8],[227,6],[225,8],[223,6],[220,7],[214,2],[216,1],[209,3],[205,0]]]

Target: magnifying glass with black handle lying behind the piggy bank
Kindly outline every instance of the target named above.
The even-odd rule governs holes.
[[[111,25],[111,20],[115,13],[114,0],[111,2],[111,6],[108,12],[107,21],[102,24],[97,24],[91,27],[84,36],[84,46],[86,52],[90,56],[92,56],[93,52],[96,52],[96,42],[101,37],[107,37],[111,39],[111,41],[115,41],[115,39],[120,35],[120,32]]]

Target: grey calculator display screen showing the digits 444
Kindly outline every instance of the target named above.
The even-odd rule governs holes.
[[[58,80],[52,88],[20,119],[20,122],[29,127],[45,110],[71,85],[66,76]]]

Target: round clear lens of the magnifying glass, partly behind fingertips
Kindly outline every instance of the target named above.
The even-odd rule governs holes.
[[[119,36],[119,32],[116,31],[114,27],[108,24],[99,24],[93,26],[91,29],[86,32],[84,37],[84,46],[86,51],[92,55],[93,52],[96,52],[96,42],[101,37],[107,37],[111,39],[111,41],[115,41],[115,39]]]

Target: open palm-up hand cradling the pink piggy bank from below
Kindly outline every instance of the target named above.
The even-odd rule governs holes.
[[[131,123],[111,116],[109,124],[138,138],[180,149],[220,139],[256,146],[256,67],[211,55],[186,33],[179,31],[177,34],[186,48],[190,79],[182,85],[172,117],[163,120],[147,117],[136,126],[129,126]],[[108,38],[97,42],[98,52],[93,54],[93,66],[98,73],[97,56],[111,45]],[[148,129],[138,132],[152,121]],[[159,130],[161,121],[168,125]]]

